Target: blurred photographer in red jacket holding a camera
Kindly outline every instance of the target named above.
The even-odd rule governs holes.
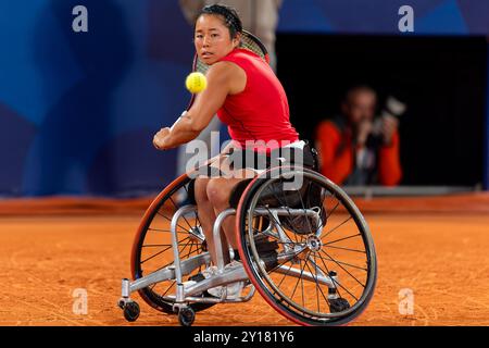
[[[379,117],[376,109],[376,91],[355,86],[347,91],[341,114],[317,126],[321,172],[336,184],[396,186],[401,181],[398,117],[405,104],[389,97]]]

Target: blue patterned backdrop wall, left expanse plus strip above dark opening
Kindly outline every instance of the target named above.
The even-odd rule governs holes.
[[[72,30],[77,4],[89,33]],[[399,34],[402,4],[285,0],[279,32]],[[410,4],[415,34],[489,33],[489,1]],[[189,98],[176,0],[1,0],[0,42],[0,196],[139,195],[175,176],[176,151],[151,139]]]

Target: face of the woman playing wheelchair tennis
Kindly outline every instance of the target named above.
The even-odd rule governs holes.
[[[203,14],[196,23],[195,44],[199,59],[212,65],[238,46],[239,36],[230,38],[221,16]]]

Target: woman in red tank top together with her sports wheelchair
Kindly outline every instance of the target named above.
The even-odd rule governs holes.
[[[364,217],[316,172],[315,151],[290,124],[266,49],[236,11],[205,7],[195,46],[193,69],[205,73],[208,88],[153,145],[187,144],[215,114],[233,141],[147,210],[133,246],[133,281],[123,279],[125,318],[139,316],[133,291],[188,326],[197,311],[249,301],[258,290],[298,324],[350,322],[366,308],[377,275]]]

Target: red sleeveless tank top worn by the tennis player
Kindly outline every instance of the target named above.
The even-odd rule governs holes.
[[[247,141],[264,141],[254,146],[259,152],[269,152],[299,140],[290,124],[286,92],[272,67],[244,49],[235,49],[221,61],[233,62],[247,74],[244,90],[227,96],[217,111],[220,120],[228,126],[231,139],[243,148]]]

